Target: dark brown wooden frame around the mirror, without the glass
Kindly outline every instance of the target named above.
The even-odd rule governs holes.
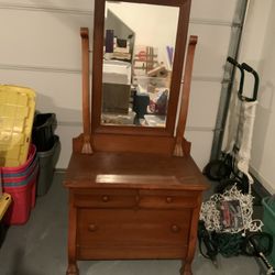
[[[112,2],[121,2],[112,0]],[[169,100],[165,128],[105,125],[101,124],[102,103],[102,64],[105,40],[106,0],[95,0],[94,47],[92,47],[92,97],[91,97],[91,134],[130,134],[151,136],[174,136],[178,109],[178,98],[182,87],[183,67],[186,52],[189,24],[190,0],[123,0],[122,2],[145,3],[156,6],[178,7],[178,23],[170,79]]]

